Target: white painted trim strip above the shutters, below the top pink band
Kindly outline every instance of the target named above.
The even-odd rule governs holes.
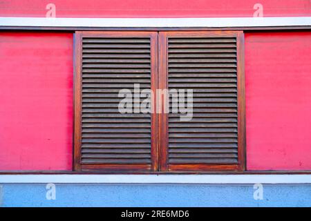
[[[1,26],[171,28],[171,27],[277,27],[311,26],[311,17],[222,17],[222,18],[45,18],[0,17]]]

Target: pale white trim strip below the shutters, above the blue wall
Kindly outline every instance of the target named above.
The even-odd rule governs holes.
[[[311,175],[0,175],[0,184],[311,184]]]

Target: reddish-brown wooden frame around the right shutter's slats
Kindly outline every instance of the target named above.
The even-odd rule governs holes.
[[[168,88],[168,37],[236,37],[238,85],[238,164],[169,164],[168,163],[168,114],[159,116],[160,122],[160,171],[245,171],[245,75],[244,35],[242,31],[171,31],[159,35],[159,85]]]

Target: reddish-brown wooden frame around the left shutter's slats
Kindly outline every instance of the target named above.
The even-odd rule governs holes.
[[[158,88],[158,32],[75,32],[74,79],[74,157],[75,171],[140,172],[158,171],[158,115],[151,113],[151,164],[82,164],[82,38],[83,37],[150,37],[151,91]],[[155,99],[156,100],[156,99]],[[152,104],[151,104],[152,105]],[[154,105],[154,104],[153,104]],[[152,107],[151,107],[152,108]]]

